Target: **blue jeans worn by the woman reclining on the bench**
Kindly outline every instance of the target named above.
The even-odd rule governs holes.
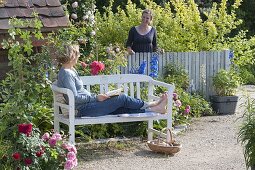
[[[144,113],[145,110],[141,109],[143,106],[144,102],[142,100],[121,94],[101,102],[85,103],[78,109],[78,116],[96,117],[110,114]]]

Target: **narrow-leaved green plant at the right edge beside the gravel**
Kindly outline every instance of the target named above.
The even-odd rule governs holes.
[[[245,110],[238,139],[244,145],[244,157],[248,168],[255,166],[255,100],[247,96],[247,102],[243,105]]]

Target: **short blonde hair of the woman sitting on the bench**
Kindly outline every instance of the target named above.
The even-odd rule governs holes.
[[[56,50],[56,49],[53,49]],[[71,61],[72,56],[75,52],[79,51],[79,45],[63,45],[56,50],[55,58],[60,64],[66,64]]]

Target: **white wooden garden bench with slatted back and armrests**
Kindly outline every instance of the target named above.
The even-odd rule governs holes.
[[[174,85],[156,81],[147,75],[140,74],[81,76],[81,80],[88,91],[91,90],[92,86],[99,85],[100,93],[105,93],[111,90],[109,88],[112,87],[112,85],[115,85],[116,88],[124,87],[125,94],[136,98],[141,98],[141,87],[146,87],[148,88],[148,101],[159,99],[159,97],[155,95],[154,89],[155,86],[163,86],[167,89],[168,93],[167,113],[153,116],[143,116],[143,113],[141,113],[141,116],[137,117],[122,117],[119,115],[75,117],[74,95],[72,91],[67,88],[59,88],[56,86],[56,82],[54,82],[51,85],[54,96],[54,130],[60,130],[60,122],[68,125],[70,134],[69,141],[71,143],[75,143],[76,125],[148,121],[148,140],[152,140],[153,133],[159,134],[159,131],[153,129],[153,121],[165,119],[167,121],[167,128],[172,127],[172,96]],[[59,101],[59,94],[66,94],[69,99],[69,104]],[[67,109],[69,116],[61,114],[60,108]],[[167,134],[163,134],[163,136],[166,138],[169,137]]]

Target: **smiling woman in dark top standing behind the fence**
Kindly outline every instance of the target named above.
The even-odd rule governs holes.
[[[150,26],[152,21],[152,12],[145,9],[142,12],[142,22],[129,30],[126,43],[129,54],[135,52],[155,52],[157,50],[157,32]]]

